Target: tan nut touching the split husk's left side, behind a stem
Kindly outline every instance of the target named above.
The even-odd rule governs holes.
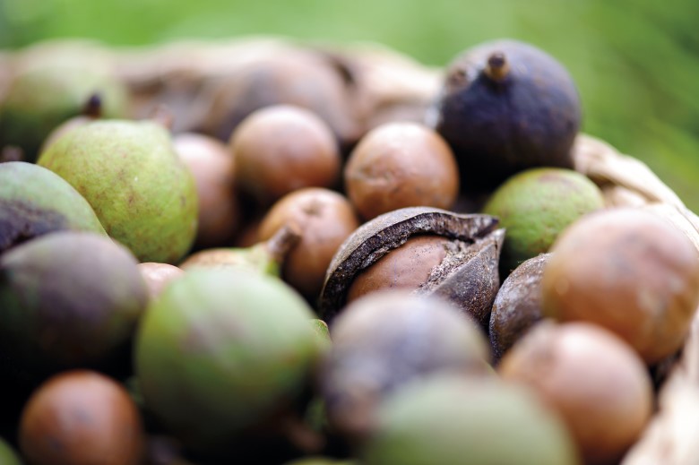
[[[298,228],[301,238],[286,256],[281,276],[308,300],[315,301],[332,256],[359,227],[357,215],[344,195],[307,187],[272,205],[260,223],[259,240],[269,239],[287,224]]]

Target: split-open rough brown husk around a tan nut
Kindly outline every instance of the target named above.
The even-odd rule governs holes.
[[[434,266],[430,268],[427,263],[420,263],[421,271],[405,273],[411,285],[409,281],[396,282],[393,287],[414,287],[418,276],[427,275],[426,280],[414,288],[416,294],[444,297],[487,327],[490,308],[500,286],[497,261],[505,236],[505,230],[496,227],[497,219],[489,215],[460,215],[434,207],[406,207],[379,215],[352,232],[332,257],[318,302],[319,313],[326,321],[331,321],[346,304],[354,280],[365,271],[371,273],[375,263],[393,254],[411,238],[440,236],[448,239],[442,245],[444,259],[437,263],[437,258],[442,256],[440,245],[427,247],[432,250],[428,255],[432,255],[430,260]],[[413,266],[410,264],[416,263],[413,252],[410,247],[399,250],[399,256],[407,257],[408,263],[395,266],[401,270]],[[391,258],[385,260],[392,263]],[[384,273],[387,278],[382,280],[390,283],[388,268],[388,274]]]

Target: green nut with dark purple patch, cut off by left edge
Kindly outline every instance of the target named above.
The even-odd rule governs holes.
[[[90,203],[62,177],[32,163],[0,163],[0,253],[65,229],[107,235]]]

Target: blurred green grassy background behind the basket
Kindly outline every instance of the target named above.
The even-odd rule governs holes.
[[[276,34],[381,42],[444,66],[486,39],[544,48],[573,74],[583,130],[643,159],[699,211],[697,0],[0,0],[0,48]]]

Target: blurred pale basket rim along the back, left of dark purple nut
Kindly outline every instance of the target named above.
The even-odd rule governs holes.
[[[211,96],[220,96],[241,70],[289,56],[317,59],[341,74],[352,104],[350,117],[358,125],[367,125],[368,118],[381,111],[427,107],[441,80],[436,68],[375,43],[341,46],[253,36],[123,47],[114,53],[116,73],[135,97],[132,114],[147,115],[154,98],[164,99],[177,107],[175,113],[186,115],[175,122],[177,131],[211,125],[216,117],[211,115]]]

